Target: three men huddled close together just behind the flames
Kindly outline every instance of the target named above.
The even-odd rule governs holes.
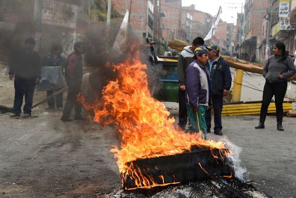
[[[214,133],[222,135],[223,97],[231,86],[229,65],[220,56],[218,45],[203,46],[195,38],[178,59],[179,126],[185,131],[211,132],[211,111],[214,110]],[[188,128],[185,128],[187,123]]]

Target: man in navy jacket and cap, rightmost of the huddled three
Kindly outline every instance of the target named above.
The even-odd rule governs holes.
[[[220,56],[219,46],[213,44],[208,47],[209,49],[209,61],[207,68],[210,71],[212,79],[212,103],[214,109],[214,133],[216,135],[222,135],[222,107],[223,107],[223,96],[228,94],[231,86],[231,73],[229,65]],[[211,109],[206,113],[207,121],[207,132],[211,132]]]

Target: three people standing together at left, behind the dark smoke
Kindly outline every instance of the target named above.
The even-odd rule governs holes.
[[[74,119],[84,120],[85,118],[81,116],[82,105],[76,101],[83,75],[81,57],[83,44],[81,42],[74,43],[74,52],[68,56],[67,60],[61,55],[63,49],[58,44],[53,45],[51,51],[42,58],[34,50],[35,45],[36,41],[33,38],[26,39],[25,47],[17,52],[15,58],[11,61],[9,79],[14,80],[15,94],[10,117],[21,115],[24,97],[23,116],[31,116],[35,88],[40,83],[42,76],[46,77],[49,82],[57,82],[57,84],[43,87],[47,92],[47,97],[60,92],[47,100],[48,107],[46,109],[53,110],[56,106],[58,110],[63,111],[62,121],[72,121],[70,115],[74,107]],[[59,72],[62,74],[59,74]],[[61,81],[63,76],[65,76],[68,85],[68,95],[64,108],[63,91],[60,91],[63,89],[63,79],[62,83],[58,85],[58,81]]]

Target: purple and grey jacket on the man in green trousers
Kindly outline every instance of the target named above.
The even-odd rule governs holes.
[[[211,78],[208,69],[196,59],[185,73],[186,101],[191,107],[212,106]]]

